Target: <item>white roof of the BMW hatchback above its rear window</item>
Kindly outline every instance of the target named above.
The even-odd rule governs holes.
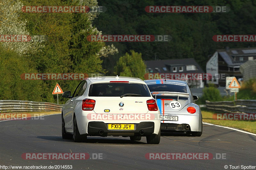
[[[142,83],[145,84],[145,82],[140,78],[134,78],[134,77],[124,77],[124,76],[100,76],[100,77],[90,77],[90,78],[84,78],[84,80],[89,80],[92,83],[106,83],[109,81],[129,81],[130,83]]]

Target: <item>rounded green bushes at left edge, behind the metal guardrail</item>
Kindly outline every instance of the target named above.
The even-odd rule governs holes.
[[[42,81],[22,80],[22,73],[34,73],[35,68],[14,52],[0,46],[0,100],[41,101]]]

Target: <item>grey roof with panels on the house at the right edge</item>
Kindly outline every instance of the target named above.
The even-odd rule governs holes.
[[[225,48],[217,49],[219,55],[228,66],[240,66],[246,61],[234,61],[234,57],[256,56],[256,48]]]

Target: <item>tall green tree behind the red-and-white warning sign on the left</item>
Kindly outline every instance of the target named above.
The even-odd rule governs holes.
[[[33,1],[21,0],[23,4],[40,6],[63,5],[97,5],[96,0],[56,0]],[[21,5],[22,6],[22,5]],[[90,34],[101,34],[92,21],[97,13],[21,13],[20,19],[26,21],[26,28],[32,35],[46,35],[47,41],[41,48],[28,51],[25,58],[35,66],[39,73],[102,73],[102,58],[114,54],[114,46],[106,46],[104,42],[89,42],[86,37]],[[52,90],[58,82],[63,91],[73,91],[80,80],[46,80],[41,99],[56,102],[57,96]],[[66,99],[60,98],[60,103]]]

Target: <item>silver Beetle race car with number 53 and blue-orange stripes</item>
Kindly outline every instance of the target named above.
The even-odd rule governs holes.
[[[186,132],[201,136],[202,114],[187,82],[181,80],[145,80],[161,112],[162,132]]]

